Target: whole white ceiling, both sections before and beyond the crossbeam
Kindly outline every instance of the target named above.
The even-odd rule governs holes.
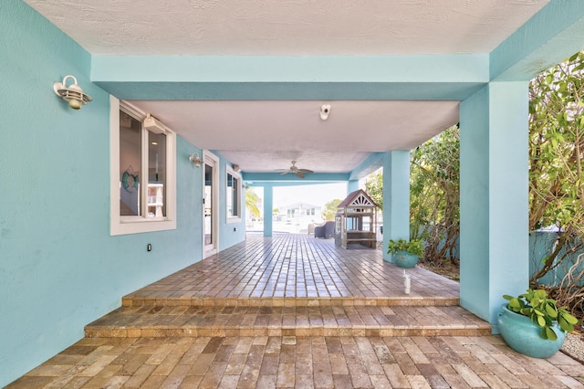
[[[25,0],[91,54],[489,53],[548,0]],[[244,172],[347,173],[458,121],[458,101],[133,100]],[[330,103],[328,121],[318,116]]]

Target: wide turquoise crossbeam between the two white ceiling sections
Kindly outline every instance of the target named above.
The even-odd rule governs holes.
[[[464,100],[488,56],[93,56],[91,80],[123,100]]]

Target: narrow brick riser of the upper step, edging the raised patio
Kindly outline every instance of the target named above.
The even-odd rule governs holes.
[[[125,296],[121,300],[122,307],[448,307],[460,304],[458,297],[332,297],[332,298],[200,298],[200,297],[172,297],[158,293],[153,297]]]

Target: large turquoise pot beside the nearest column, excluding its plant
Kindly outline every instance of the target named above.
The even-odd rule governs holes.
[[[539,334],[541,328],[527,316],[507,309],[507,304],[501,306],[498,328],[505,342],[516,352],[521,352],[534,358],[549,358],[554,355],[564,344],[566,332],[560,331],[559,326],[553,328],[558,335],[556,341],[543,339]]]

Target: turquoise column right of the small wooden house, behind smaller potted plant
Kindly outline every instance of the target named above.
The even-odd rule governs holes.
[[[396,150],[383,156],[383,260],[390,239],[410,238],[410,152]]]

